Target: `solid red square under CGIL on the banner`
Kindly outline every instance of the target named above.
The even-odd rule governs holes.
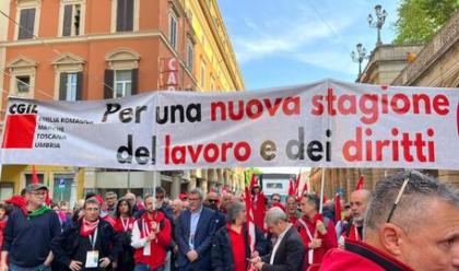
[[[32,149],[37,115],[10,115],[3,137],[3,149]]]

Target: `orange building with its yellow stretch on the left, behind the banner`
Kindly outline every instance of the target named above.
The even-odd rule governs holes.
[[[8,11],[0,14],[0,30],[7,30],[0,33],[1,119],[9,95],[93,101],[154,90],[245,89],[215,1],[8,0],[0,5]],[[37,167],[52,174],[48,169]],[[17,176],[20,168],[3,167],[9,170],[14,174],[8,176]],[[13,182],[17,193],[26,172],[21,170],[19,179],[2,177],[2,182]],[[71,184],[76,191],[143,195],[153,184],[162,184],[175,197],[196,186],[240,190],[243,182],[240,170],[234,168],[68,172],[74,174]]]

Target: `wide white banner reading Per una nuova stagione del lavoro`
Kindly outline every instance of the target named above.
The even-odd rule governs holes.
[[[234,166],[459,169],[459,89],[332,80],[97,102],[10,98],[1,161],[169,170]]]

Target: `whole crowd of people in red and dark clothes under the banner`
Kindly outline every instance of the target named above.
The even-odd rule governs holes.
[[[87,193],[71,209],[28,185],[0,203],[0,270],[459,270],[459,192],[433,177],[387,177],[341,211],[316,193],[283,203],[250,189]]]

